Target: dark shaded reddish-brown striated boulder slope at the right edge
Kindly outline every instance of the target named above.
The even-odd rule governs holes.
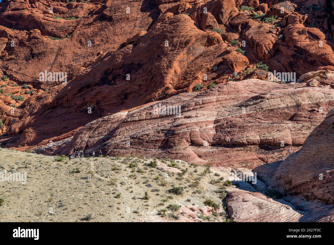
[[[282,193],[333,204],[334,110],[305,140],[297,153],[284,160],[272,178]]]

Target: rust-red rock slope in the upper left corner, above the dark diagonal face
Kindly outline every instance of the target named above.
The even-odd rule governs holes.
[[[107,0],[103,4],[2,1],[0,37],[7,38],[8,43],[2,54],[1,69],[14,81],[50,88],[59,83],[39,81],[39,72],[67,72],[72,77],[85,62],[101,52],[116,50],[158,17],[158,10],[150,0],[130,3]],[[133,14],[126,14],[127,7]],[[63,40],[49,38],[67,35]],[[10,46],[11,41],[16,42],[15,48]]]

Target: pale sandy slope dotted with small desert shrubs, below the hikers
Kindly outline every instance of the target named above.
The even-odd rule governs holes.
[[[0,206],[0,221],[85,221],[90,214],[92,222],[203,221],[203,216],[198,218],[201,214],[212,221],[225,220],[222,199],[215,193],[219,186],[208,183],[221,176],[213,172],[203,174],[206,169],[203,166],[175,161],[180,169],[187,169],[181,176],[177,174],[181,173],[179,169],[167,166],[172,163],[170,160],[166,163],[157,160],[156,168],[145,166],[154,159],[137,157],[70,161],[66,158],[57,162],[55,157],[9,149],[0,149],[0,159],[0,172],[27,173],[26,184],[0,182],[0,198],[5,199]],[[131,162],[137,166],[129,167]],[[79,168],[80,172],[72,173],[74,168]],[[94,171],[91,180],[88,171]],[[155,180],[156,176],[159,179]],[[225,180],[228,177],[227,174]],[[188,187],[196,182],[195,178],[200,179],[196,186]],[[166,186],[160,185],[161,180],[167,181]],[[173,184],[185,187],[182,195],[167,191]],[[143,199],[145,191],[148,200]],[[118,193],[121,194],[119,198]],[[212,216],[211,208],[204,206],[206,199],[219,204],[219,216]],[[180,210],[174,212],[180,217],[178,220],[169,216],[173,212],[168,208],[166,217],[158,214],[159,210],[174,203],[181,205]]]

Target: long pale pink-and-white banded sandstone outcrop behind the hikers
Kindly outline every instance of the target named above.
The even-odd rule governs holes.
[[[104,155],[167,155],[187,162],[254,168],[299,150],[334,107],[332,90],[304,85],[250,79],[178,94],[97,119],[43,151],[102,149]],[[163,106],[173,115],[169,111],[163,115],[163,110],[159,114]]]

